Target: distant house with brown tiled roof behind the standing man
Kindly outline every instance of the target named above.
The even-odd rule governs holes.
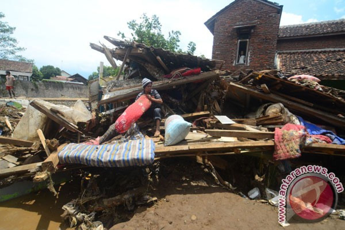
[[[30,81],[32,65],[33,64],[29,62],[0,59],[0,75],[5,76],[6,71],[10,71],[11,75],[16,79]]]

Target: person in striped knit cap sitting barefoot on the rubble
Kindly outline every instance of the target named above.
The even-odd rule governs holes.
[[[142,79],[142,88],[144,90],[138,94],[135,100],[137,101],[141,95],[147,94],[148,99],[151,101],[151,107],[143,115],[145,117],[153,117],[156,121],[156,132],[154,136],[158,137],[160,135],[160,121],[162,120],[160,104],[163,104],[163,100],[157,90],[152,89],[152,81],[150,79]]]

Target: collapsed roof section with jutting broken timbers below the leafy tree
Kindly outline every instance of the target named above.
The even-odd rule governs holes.
[[[224,63],[224,61],[209,60],[190,54],[173,53],[161,48],[148,47],[145,44],[137,42],[121,41],[109,36],[104,36],[104,38],[116,48],[109,49],[103,44],[102,46],[98,46],[94,43],[90,43],[90,47],[104,53],[114,68],[117,67],[114,59],[122,61],[116,80],[119,80],[120,73],[125,65],[128,65],[130,62],[136,63],[141,76],[147,76],[157,80],[162,80],[164,74],[168,74],[172,70],[181,67],[192,69],[200,67],[201,71],[207,72],[218,69]]]

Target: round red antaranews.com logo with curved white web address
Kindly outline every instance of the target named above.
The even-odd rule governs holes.
[[[292,171],[282,180],[279,190],[278,221],[283,226],[293,222],[318,222],[336,208],[343,184],[333,172],[322,166],[308,165]]]

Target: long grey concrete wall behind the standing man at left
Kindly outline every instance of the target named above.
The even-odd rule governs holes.
[[[30,98],[88,98],[88,86],[73,83],[37,82],[17,80],[14,83],[16,97]],[[0,96],[9,97],[4,81],[1,82]]]

